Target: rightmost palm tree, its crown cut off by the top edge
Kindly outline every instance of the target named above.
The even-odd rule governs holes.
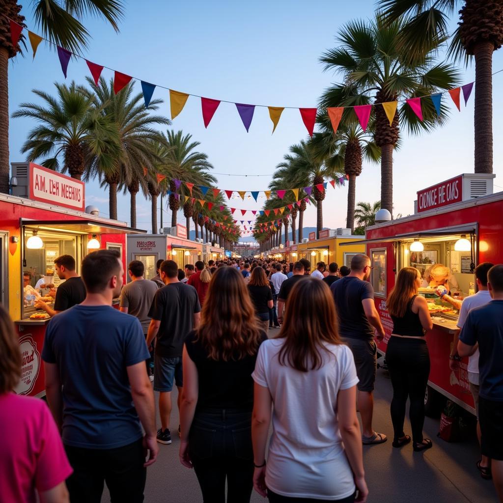
[[[451,38],[449,53],[466,63],[475,59],[475,173],[492,173],[492,53],[503,44],[503,6],[500,0],[379,0],[387,19],[406,17],[404,46],[422,54],[432,42]],[[462,5],[461,22],[449,34],[448,17]]]

